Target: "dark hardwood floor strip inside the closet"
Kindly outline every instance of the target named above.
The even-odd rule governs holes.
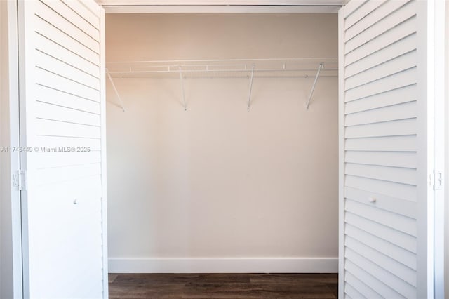
[[[109,274],[109,298],[337,298],[337,281],[338,274]]]

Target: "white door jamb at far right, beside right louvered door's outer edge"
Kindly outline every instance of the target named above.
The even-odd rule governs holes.
[[[445,156],[448,151],[445,145],[445,135],[449,133],[449,128],[445,126],[445,99],[448,97],[448,88],[445,83],[448,78],[445,66],[447,65],[447,55],[445,55],[445,32],[446,22],[448,22],[446,15],[447,1],[429,1],[427,4],[427,56],[429,62],[427,74],[427,99],[430,110],[429,117],[431,122],[429,125],[434,126],[428,129],[428,134],[433,139],[433,144],[429,145],[429,149],[433,150],[433,165],[429,165],[432,171],[441,173],[441,182],[438,182],[438,173],[436,177],[431,178],[431,182],[436,187],[431,186],[433,198],[429,199],[429,239],[428,239],[428,253],[429,260],[433,263],[429,267],[429,281],[428,290],[429,295],[434,298],[445,298],[449,293],[449,289],[445,289],[445,199],[448,199],[448,192],[445,191],[448,179],[445,178],[445,163],[449,161],[449,157]],[[431,142],[431,141],[430,141]],[[441,186],[438,185],[441,183]],[[448,240],[446,240],[448,241]],[[446,278],[447,279],[447,278]]]

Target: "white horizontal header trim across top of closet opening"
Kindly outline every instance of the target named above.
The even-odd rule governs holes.
[[[337,13],[340,6],[103,6],[106,13]]]

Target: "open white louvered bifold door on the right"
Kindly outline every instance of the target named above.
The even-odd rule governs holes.
[[[426,2],[340,27],[340,298],[427,298]]]

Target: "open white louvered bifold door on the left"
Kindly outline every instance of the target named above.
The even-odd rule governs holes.
[[[25,298],[107,298],[104,11],[18,7]]]

